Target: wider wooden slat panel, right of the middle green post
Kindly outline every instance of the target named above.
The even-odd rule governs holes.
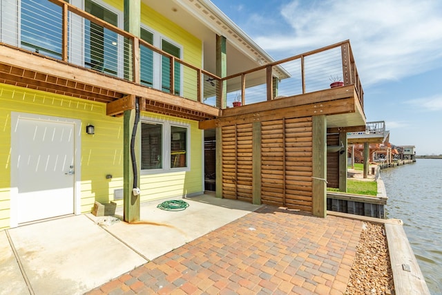
[[[262,122],[264,204],[311,212],[311,117]]]

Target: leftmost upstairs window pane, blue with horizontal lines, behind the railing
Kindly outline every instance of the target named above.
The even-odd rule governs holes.
[[[61,58],[61,7],[47,0],[21,0],[21,46]]]

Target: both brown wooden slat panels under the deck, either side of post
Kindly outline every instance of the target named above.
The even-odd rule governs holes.
[[[261,202],[312,211],[311,117],[261,122]],[[252,202],[252,124],[222,126],[222,197]]]

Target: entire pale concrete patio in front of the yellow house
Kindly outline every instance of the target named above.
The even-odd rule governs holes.
[[[184,211],[158,209],[164,200],[142,204],[138,224],[87,213],[1,231],[0,294],[84,294],[260,208],[209,195],[184,200]]]

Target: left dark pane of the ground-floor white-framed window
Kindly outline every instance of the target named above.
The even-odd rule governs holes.
[[[141,124],[141,169],[162,169],[162,124]]]

